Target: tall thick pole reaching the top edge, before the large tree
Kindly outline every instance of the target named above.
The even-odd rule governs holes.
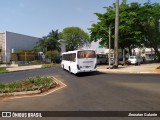
[[[118,67],[119,0],[116,0],[114,66]]]

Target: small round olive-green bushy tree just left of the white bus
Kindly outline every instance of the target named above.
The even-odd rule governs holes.
[[[52,62],[56,62],[56,59],[58,57],[59,57],[59,52],[57,50],[46,52],[46,58],[51,59]]]

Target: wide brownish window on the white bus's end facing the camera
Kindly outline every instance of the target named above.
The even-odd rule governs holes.
[[[95,51],[92,50],[85,50],[85,51],[78,51],[78,58],[96,58]]]

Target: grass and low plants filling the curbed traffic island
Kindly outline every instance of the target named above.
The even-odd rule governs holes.
[[[12,83],[0,83],[0,93],[12,93],[35,90],[41,90],[41,92],[44,92],[56,86],[57,84],[52,77],[36,76]]]

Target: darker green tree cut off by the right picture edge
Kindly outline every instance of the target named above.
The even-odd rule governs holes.
[[[159,19],[160,19],[160,4],[150,2],[145,3],[139,11],[140,28],[143,32],[142,42],[146,47],[151,47],[155,51],[157,56],[155,59],[160,61],[160,52],[158,47],[160,45],[160,31],[159,31]]]

